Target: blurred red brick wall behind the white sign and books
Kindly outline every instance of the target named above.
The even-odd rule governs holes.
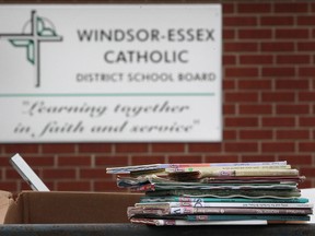
[[[88,1],[68,1],[78,2]],[[8,163],[15,152],[52,190],[117,190],[109,166],[282,160],[307,177],[301,187],[314,188],[315,2],[215,2],[224,25],[222,142],[0,144],[0,189],[30,189]]]

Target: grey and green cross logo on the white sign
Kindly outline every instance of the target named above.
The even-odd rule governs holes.
[[[38,16],[35,10],[31,12],[31,20],[24,24],[22,33],[0,33],[0,39],[8,39],[14,47],[26,49],[27,61],[36,68],[35,87],[40,85],[40,43],[62,42],[54,24],[48,19]]]

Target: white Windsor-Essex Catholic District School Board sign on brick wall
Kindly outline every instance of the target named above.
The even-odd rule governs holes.
[[[222,139],[220,4],[0,5],[0,142]]]

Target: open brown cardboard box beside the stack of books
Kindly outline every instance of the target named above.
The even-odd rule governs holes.
[[[139,202],[140,193],[22,191],[14,200],[0,191],[0,223],[73,224],[129,223],[127,208]]]

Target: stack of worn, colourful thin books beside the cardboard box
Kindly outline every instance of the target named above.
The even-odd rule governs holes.
[[[127,209],[131,223],[232,225],[305,223],[313,204],[305,177],[284,162],[152,164],[107,168],[117,186],[144,192]]]

